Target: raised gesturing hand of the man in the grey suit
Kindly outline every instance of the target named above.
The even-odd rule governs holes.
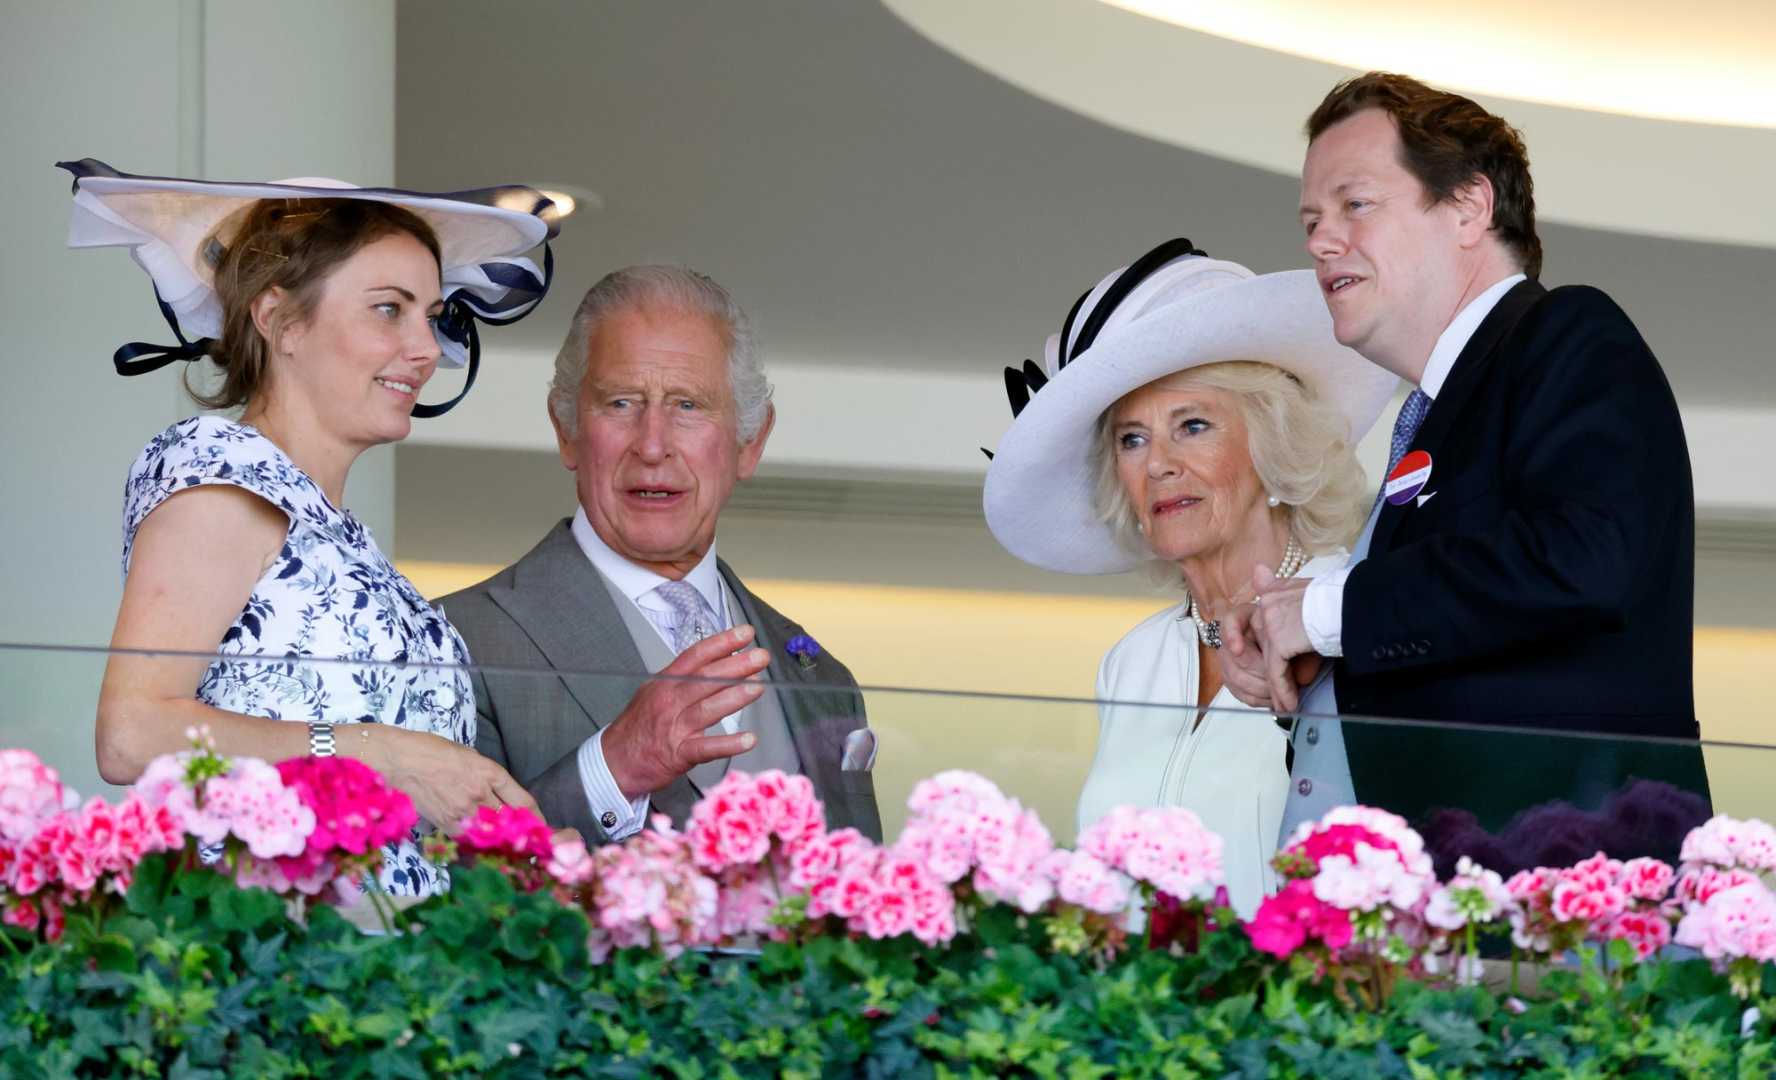
[[[686,648],[661,670],[678,679],[643,684],[629,709],[604,730],[604,764],[625,799],[655,792],[703,762],[753,748],[758,737],[751,732],[703,734],[764,693],[758,682],[739,682],[771,664],[764,648],[735,652],[751,639],[753,627],[741,625]]]

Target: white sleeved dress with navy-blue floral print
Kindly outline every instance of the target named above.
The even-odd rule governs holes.
[[[126,577],[142,520],[174,492],[204,483],[259,496],[289,517],[289,531],[217,645],[218,659],[197,684],[201,702],[298,723],[387,723],[474,744],[462,636],[389,563],[369,529],[252,426],[197,416],[147,444],[124,483]],[[350,737],[341,732],[343,744]],[[448,872],[419,853],[417,835],[384,849],[382,886],[394,895],[449,888]]]

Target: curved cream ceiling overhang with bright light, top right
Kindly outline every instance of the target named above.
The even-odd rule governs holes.
[[[1639,53],[1621,44],[1621,34],[1575,36],[1570,27],[1561,28],[1559,20],[1543,18],[1536,23],[1533,18],[1550,7],[1575,7],[1575,2],[1501,0],[1495,5],[1499,12],[1488,9],[1488,16],[1497,14],[1502,23],[1488,27],[1485,34],[1469,28],[1465,36],[1458,36],[1462,25],[1456,21],[1412,21],[1412,11],[1435,5],[1405,0],[1314,5],[1339,14],[1346,23],[1346,37],[1341,39],[1346,46],[1341,46],[1339,59],[1364,68],[1261,48],[1117,5],[1158,7],[1160,0],[883,4],[936,44],[1037,98],[1137,135],[1286,176],[1300,174],[1305,151],[1302,123],[1320,98],[1337,80],[1371,64],[1384,66],[1385,60],[1387,68],[1405,69],[1428,82],[1460,85],[1522,130],[1534,165],[1536,208],[1543,220],[1678,240],[1776,247],[1776,71],[1771,71],[1776,64],[1753,64],[1764,69],[1762,82],[1710,83],[1721,87],[1719,94],[1739,94],[1739,115],[1762,117],[1765,126],[1575,108],[1467,85],[1476,80],[1481,87],[1527,85],[1536,96],[1558,98],[1549,91],[1550,83],[1518,78],[1520,64],[1513,68],[1499,60],[1497,75],[1488,76],[1490,83],[1481,78],[1490,53],[1506,43],[1534,43],[1534,55],[1565,53],[1574,69],[1581,62],[1598,69],[1643,62]],[[1728,0],[1709,4],[1719,7]],[[1199,9],[1208,5],[1192,4],[1188,14],[1179,14],[1186,9],[1183,4],[1165,7],[1172,18],[1197,20]],[[1272,12],[1305,11],[1309,2],[1259,0],[1257,7]],[[1632,21],[1632,5],[1618,7],[1607,18]],[[1668,7],[1655,14],[1671,20]],[[1208,23],[1209,16],[1202,16],[1202,21],[1229,34],[1256,36],[1250,25],[1234,27],[1229,21],[1233,16],[1217,18],[1220,21]],[[1721,52],[1721,69],[1735,69],[1733,57],[1758,52],[1771,55],[1776,43],[1769,41],[1767,25],[1772,21],[1776,16],[1742,23],[1737,36],[1693,34],[1684,39],[1684,48],[1694,52],[1710,41],[1732,44],[1737,39],[1764,37],[1746,46],[1749,53],[1740,48],[1744,43],[1733,46],[1740,52]],[[1304,25],[1307,30],[1314,28],[1312,21]],[[1380,36],[1373,27],[1385,27],[1387,34]],[[1352,52],[1364,36],[1384,43],[1385,50]],[[1451,39],[1467,43],[1467,50],[1449,50]],[[1639,43],[1636,48],[1648,48],[1646,41],[1634,41]],[[1467,57],[1463,62],[1469,68],[1455,69],[1455,78],[1444,75],[1447,68],[1435,68],[1439,52]],[[1423,60],[1401,62],[1410,57]],[[1691,80],[1694,71],[1685,64],[1668,62],[1643,82]],[[1566,99],[1600,101],[1597,85],[1600,83],[1593,83],[1590,98],[1568,94]],[[1637,98],[1641,103],[1655,99]],[[1618,108],[1629,105],[1632,103],[1618,101]],[[1066,153],[1066,147],[1057,147],[1057,153]],[[1280,213],[1293,217],[1293,206]]]

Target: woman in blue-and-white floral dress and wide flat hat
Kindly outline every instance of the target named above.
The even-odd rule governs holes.
[[[364,449],[455,405],[419,405],[440,362],[467,362],[474,382],[476,318],[513,322],[542,298],[547,272],[520,254],[554,234],[551,202],[529,188],[423,195],[62,167],[75,174],[69,243],[128,247],[179,339],[119,348],[119,373],[208,357],[220,385],[194,396],[240,409],[172,425],[130,469],[112,647],[199,655],[114,654],[99,773],[130,783],[206,725],[224,753],[359,757],[439,826],[476,805],[535,808],[474,751],[462,638],[343,494]],[[378,878],[396,895],[448,886],[414,840],[384,851]]]

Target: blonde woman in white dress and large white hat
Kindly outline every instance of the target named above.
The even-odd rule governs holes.
[[[986,515],[1018,558],[1066,574],[1149,568],[1185,597],[1098,671],[1085,828],[1112,806],[1186,806],[1225,840],[1250,915],[1273,890],[1288,735],[1222,686],[1224,620],[1252,570],[1341,567],[1368,510],[1353,448],[1394,377],[1332,339],[1312,272],[1254,275],[1172,240],[1105,277],[1007,369],[1016,416]]]

